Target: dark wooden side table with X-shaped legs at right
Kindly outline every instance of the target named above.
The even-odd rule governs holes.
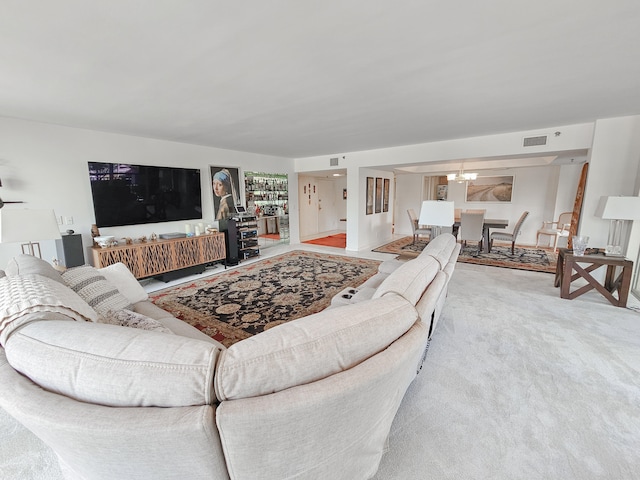
[[[579,264],[589,264],[582,267]],[[606,266],[604,284],[598,282],[591,272]],[[616,271],[620,267],[622,270],[616,276]],[[573,273],[575,270],[576,273]],[[633,262],[624,257],[608,257],[602,253],[585,254],[577,256],[572,250],[566,248],[558,249],[558,263],[556,265],[555,286],[560,287],[560,297],[573,300],[583,293],[594,288],[600,292],[612,305],[616,307],[626,307],[631,288],[631,274],[633,272]],[[584,278],[587,285],[577,290],[571,291],[571,282],[578,278]],[[618,298],[613,293],[618,292]]]

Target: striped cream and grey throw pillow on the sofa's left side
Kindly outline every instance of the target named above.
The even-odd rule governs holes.
[[[62,274],[62,279],[100,315],[131,308],[131,302],[118,288],[91,265],[70,268]]]

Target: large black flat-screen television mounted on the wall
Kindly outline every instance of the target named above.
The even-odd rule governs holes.
[[[98,227],[202,218],[200,170],[89,162]]]

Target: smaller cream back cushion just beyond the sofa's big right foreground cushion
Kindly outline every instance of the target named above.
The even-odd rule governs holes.
[[[409,260],[380,284],[373,298],[395,293],[416,305],[438,271],[440,264],[429,256]]]

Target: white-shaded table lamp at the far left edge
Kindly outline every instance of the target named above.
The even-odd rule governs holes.
[[[0,210],[0,243],[22,243],[22,253],[42,258],[39,240],[61,238],[53,210],[3,208]]]

